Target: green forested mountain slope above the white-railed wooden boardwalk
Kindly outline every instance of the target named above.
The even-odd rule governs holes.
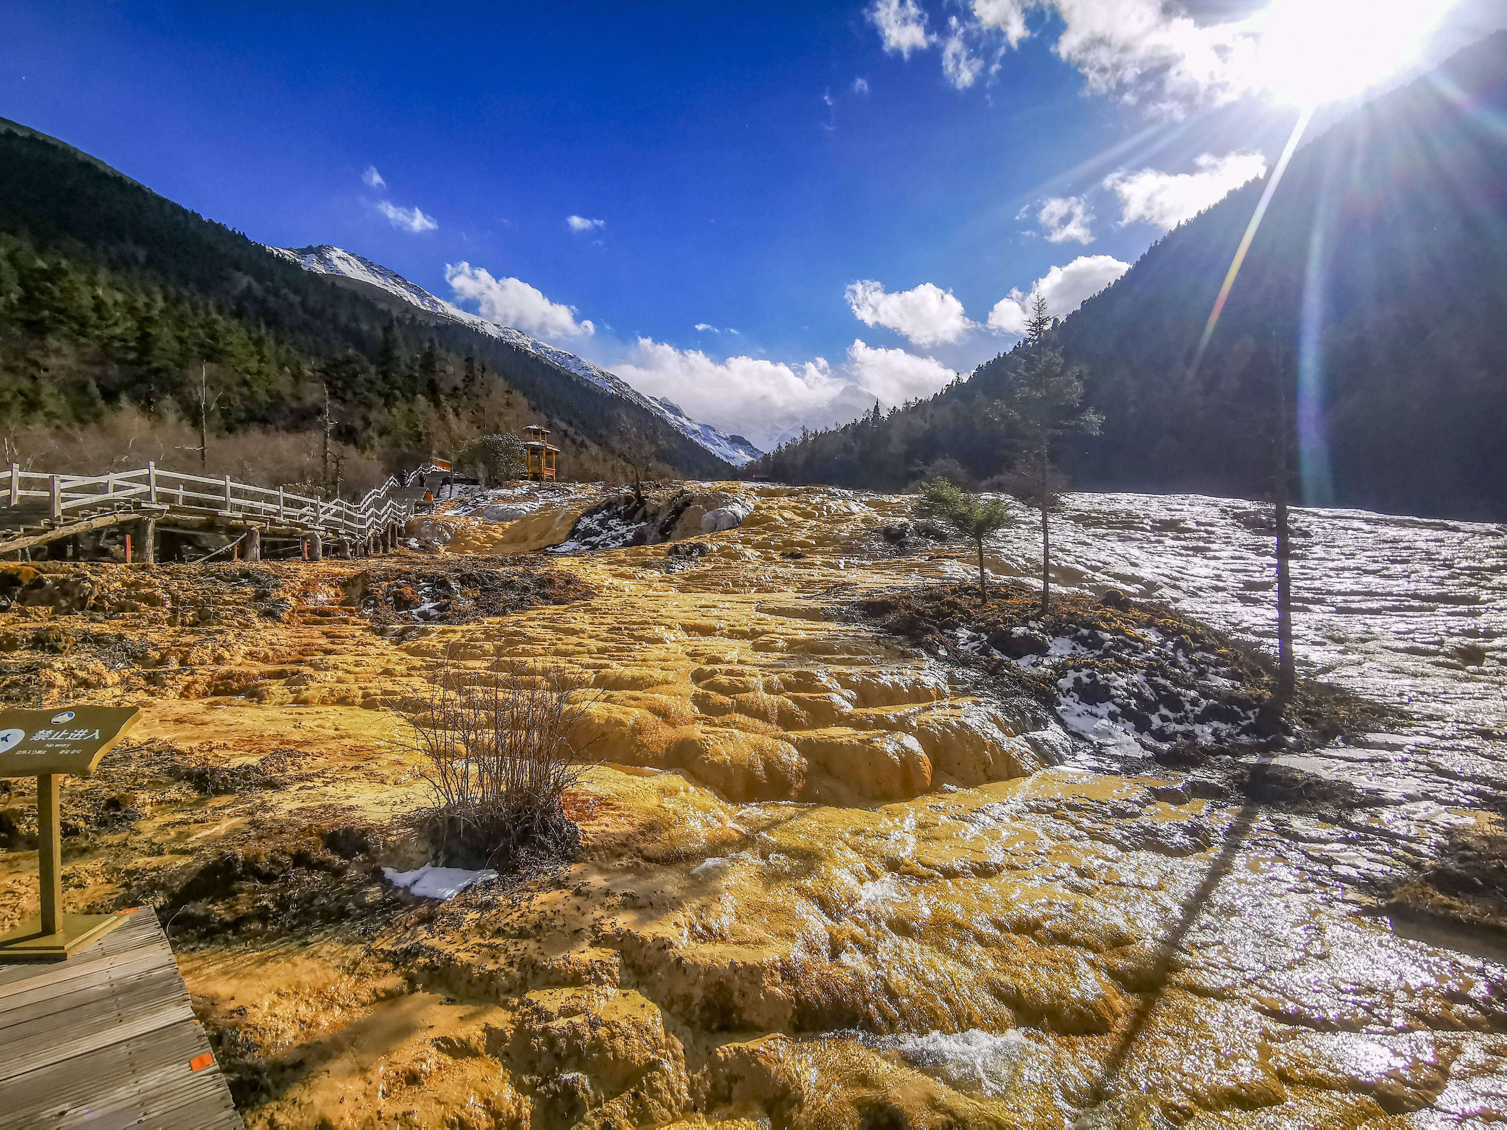
[[[402,463],[479,431],[555,428],[565,466],[631,437],[668,467],[729,466],[662,416],[460,324],[396,316],[95,158],[0,119],[0,417],[87,425],[131,405],[214,425],[321,426]],[[24,452],[23,452],[24,455]]]

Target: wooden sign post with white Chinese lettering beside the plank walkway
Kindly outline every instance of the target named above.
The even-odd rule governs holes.
[[[0,936],[0,964],[63,961],[121,924],[119,915],[63,913],[62,777],[87,777],[142,711],[54,707],[0,711],[0,777],[36,777],[36,871],[42,916]]]

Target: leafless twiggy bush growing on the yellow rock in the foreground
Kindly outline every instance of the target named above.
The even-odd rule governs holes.
[[[562,799],[589,768],[591,743],[579,738],[592,702],[559,667],[446,667],[428,699],[399,707],[434,791],[417,829],[443,863],[515,869],[576,853],[580,830]]]

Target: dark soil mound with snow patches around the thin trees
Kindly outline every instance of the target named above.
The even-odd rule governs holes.
[[[971,585],[928,586],[859,601],[880,628],[925,651],[987,669],[1053,710],[1068,732],[1121,737],[1171,767],[1215,753],[1319,746],[1374,729],[1388,710],[1326,684],[1301,681],[1281,726],[1261,707],[1275,660],[1260,648],[1165,604],[1058,597],[1002,585],[980,604]]]

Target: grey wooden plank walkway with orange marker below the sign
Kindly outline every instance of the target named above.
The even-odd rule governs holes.
[[[241,1130],[157,915],[68,961],[0,966],[0,1127]]]

